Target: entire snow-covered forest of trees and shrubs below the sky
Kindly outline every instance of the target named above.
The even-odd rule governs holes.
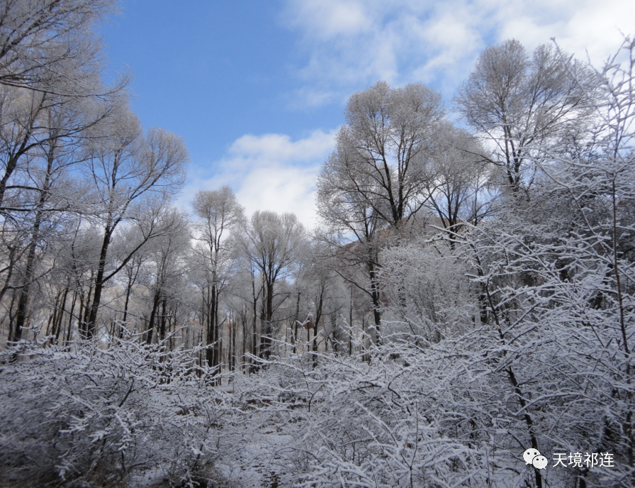
[[[1,487],[635,486],[634,38],[352,94],[310,230],[176,206],[115,1],[0,6]]]

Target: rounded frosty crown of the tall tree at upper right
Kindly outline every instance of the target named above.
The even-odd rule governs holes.
[[[554,148],[572,127],[584,124],[590,106],[583,87],[589,78],[588,67],[564,66],[549,45],[529,55],[510,39],[478,57],[456,102],[468,126],[492,146],[489,160],[513,193],[531,186],[536,148]]]

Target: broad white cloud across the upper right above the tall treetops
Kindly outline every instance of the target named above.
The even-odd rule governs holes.
[[[555,37],[599,65],[622,42],[619,30],[635,34],[635,2],[288,0],[281,20],[308,54],[295,73],[304,84],[296,105],[317,106],[378,79],[422,81],[451,96],[483,48],[507,38],[532,50]]]

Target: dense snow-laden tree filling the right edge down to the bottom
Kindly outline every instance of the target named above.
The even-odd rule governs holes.
[[[518,448],[614,456],[614,467],[574,467],[558,478],[579,487],[635,480],[634,51],[627,39],[591,85],[558,58],[593,101],[592,124],[561,145],[536,143],[531,200],[468,235],[497,336],[484,357],[508,379]],[[542,476],[535,471],[538,487]]]

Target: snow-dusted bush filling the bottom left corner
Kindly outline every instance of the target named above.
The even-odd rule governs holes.
[[[189,351],[121,340],[67,348],[18,343],[0,356],[0,484],[173,484],[218,443],[222,399]],[[198,372],[200,374],[196,375]]]

